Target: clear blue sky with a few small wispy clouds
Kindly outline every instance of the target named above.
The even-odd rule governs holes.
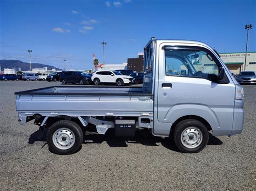
[[[152,36],[199,40],[218,52],[256,51],[256,1],[0,1],[0,59],[90,69],[92,53],[122,63],[143,52]]]

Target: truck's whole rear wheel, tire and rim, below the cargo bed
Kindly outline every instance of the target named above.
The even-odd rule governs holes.
[[[83,140],[83,131],[75,122],[58,121],[48,129],[47,143],[50,151],[56,154],[75,153],[82,146]]]

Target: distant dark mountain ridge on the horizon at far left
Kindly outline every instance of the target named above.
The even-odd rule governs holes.
[[[47,67],[48,70],[51,70],[51,69],[62,70],[54,66],[44,65],[43,63],[31,63],[31,65],[32,65],[32,68]],[[21,68],[22,71],[30,70],[30,63],[23,62],[20,60],[0,60],[0,66],[2,70],[4,70],[4,68],[11,68],[11,69],[16,68],[17,70],[18,68]]]

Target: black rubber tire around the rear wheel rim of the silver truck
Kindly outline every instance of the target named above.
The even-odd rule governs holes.
[[[74,143],[72,143],[73,145],[68,148],[68,149],[64,149],[66,145],[62,145],[60,147],[56,146],[56,143],[53,143],[53,139],[56,137],[53,137],[56,135],[57,131],[63,130],[64,133],[62,133],[63,135],[66,132],[70,132],[70,135],[75,139]],[[61,135],[62,135],[61,134]],[[59,137],[61,137],[61,135],[59,135]],[[65,136],[63,136],[65,137]],[[56,138],[57,139],[57,138]],[[57,139],[58,140],[58,139]],[[56,140],[56,142],[57,142]],[[75,122],[71,122],[68,120],[62,120],[62,121],[58,121],[56,123],[54,123],[53,125],[50,126],[50,128],[48,129],[47,132],[47,143],[49,146],[49,149],[51,152],[56,153],[56,154],[72,154],[75,153],[81,146],[84,140],[84,135],[83,135],[83,131],[80,128],[80,126],[75,123]],[[71,139],[69,140],[69,142],[71,141]],[[59,143],[62,144],[62,143]],[[69,143],[64,143],[64,144],[69,144]],[[63,148],[63,149],[62,149]]]

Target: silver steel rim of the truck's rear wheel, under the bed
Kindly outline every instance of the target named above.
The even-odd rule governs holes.
[[[75,135],[69,129],[58,129],[53,133],[52,140],[56,147],[66,150],[75,144]]]

